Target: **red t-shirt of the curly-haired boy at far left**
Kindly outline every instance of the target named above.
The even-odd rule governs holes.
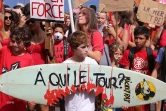
[[[15,56],[7,46],[0,49],[0,57],[0,74],[34,64],[29,53]],[[0,92],[0,111],[26,111],[26,102]]]

